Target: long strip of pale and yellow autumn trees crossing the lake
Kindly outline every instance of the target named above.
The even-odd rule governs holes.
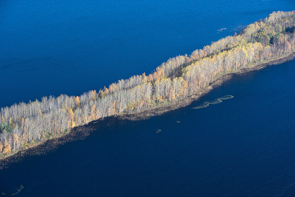
[[[146,75],[134,75],[80,96],[43,97],[0,111],[0,154],[88,124],[101,117],[133,113],[177,102],[205,87],[217,73],[244,68],[295,51],[295,11],[273,12],[190,55],[170,58]]]

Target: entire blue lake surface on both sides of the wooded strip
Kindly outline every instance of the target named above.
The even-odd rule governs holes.
[[[295,8],[275,0],[26,3],[0,2],[0,106],[150,73]],[[2,169],[0,194],[295,196],[294,89],[294,60],[237,76],[186,108],[113,123]],[[233,98],[192,109],[225,95]]]

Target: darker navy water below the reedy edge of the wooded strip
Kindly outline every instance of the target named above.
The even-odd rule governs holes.
[[[19,196],[294,196],[295,60],[0,171]],[[232,99],[192,109],[225,95]],[[180,121],[177,123],[176,121]],[[157,133],[158,129],[161,129]]]

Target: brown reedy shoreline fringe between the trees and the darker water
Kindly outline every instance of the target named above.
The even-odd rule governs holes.
[[[94,130],[95,127],[107,126],[106,123],[108,121],[113,121],[115,119],[131,120],[131,121],[144,120],[144,119],[149,119],[150,117],[153,117],[153,116],[158,116],[158,115],[170,112],[175,109],[186,107],[190,105],[192,102],[197,101],[202,96],[212,91],[214,88],[221,86],[224,82],[230,80],[234,76],[239,76],[242,74],[249,73],[251,71],[260,70],[260,69],[266,68],[267,66],[285,63],[285,62],[291,61],[294,58],[295,58],[295,52],[292,52],[288,55],[281,56],[276,59],[268,60],[266,62],[251,64],[246,66],[245,68],[234,70],[232,72],[223,73],[219,75],[218,77],[214,78],[205,88],[200,89],[197,93],[190,95],[184,99],[175,101],[173,103],[163,104],[163,105],[155,106],[152,108],[144,109],[143,111],[136,112],[133,114],[112,115],[112,116],[91,121],[85,125],[74,127],[70,129],[70,131],[67,132],[66,134],[63,134],[58,137],[53,137],[51,139],[47,139],[40,143],[34,144],[29,148],[24,148],[13,154],[2,157],[0,159],[0,169],[8,167],[10,164],[17,163],[27,156],[45,155],[47,153],[54,151],[56,148],[58,148],[62,144],[65,144],[71,141],[76,141],[79,139],[84,139]],[[99,121],[99,120],[104,120],[104,121]]]

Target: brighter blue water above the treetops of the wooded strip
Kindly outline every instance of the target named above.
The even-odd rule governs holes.
[[[2,0],[0,106],[148,74],[273,11],[294,9],[293,0]]]

